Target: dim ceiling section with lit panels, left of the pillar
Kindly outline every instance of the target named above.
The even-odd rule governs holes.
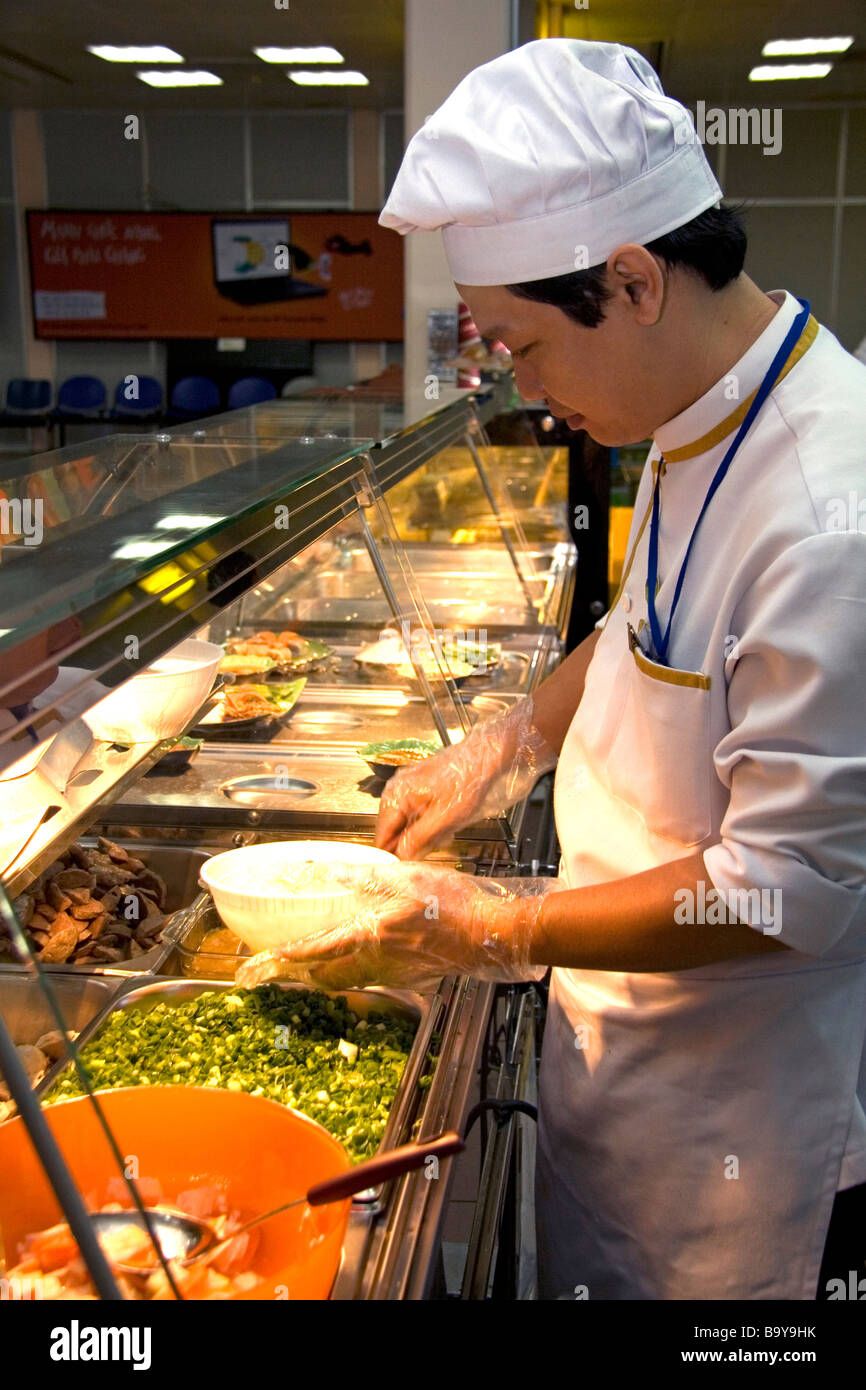
[[[435,3],[435,0],[432,0]],[[3,0],[0,106],[196,110],[403,104],[402,0]],[[222,86],[163,90],[89,43],[163,43]],[[329,44],[366,88],[299,88],[253,47]]]

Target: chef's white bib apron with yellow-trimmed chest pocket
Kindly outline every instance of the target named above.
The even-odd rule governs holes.
[[[646,534],[635,537],[644,482],[631,578],[599,637],[556,774],[560,876],[571,888],[720,838],[721,663],[713,703],[703,673],[660,678],[628,644],[628,624],[646,613]],[[689,570],[689,591],[701,578]],[[667,612],[663,587],[659,599]],[[813,1298],[847,1145],[848,1180],[866,1176],[855,1102],[865,1019],[856,951],[773,952],[669,974],[555,969],[541,1068],[539,1295]]]

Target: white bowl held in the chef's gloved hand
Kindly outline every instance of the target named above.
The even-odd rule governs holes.
[[[345,887],[297,892],[281,890],[275,873],[282,867],[311,865],[396,863],[395,855],[373,845],[334,840],[284,840],[245,845],[214,855],[199,870],[220,917],[250,951],[271,951],[314,931],[338,926],[352,915],[354,895]]]

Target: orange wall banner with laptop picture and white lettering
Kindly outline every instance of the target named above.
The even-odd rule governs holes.
[[[28,211],[38,338],[403,336],[375,213]]]

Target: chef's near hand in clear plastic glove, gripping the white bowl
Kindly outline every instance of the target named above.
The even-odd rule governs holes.
[[[336,866],[352,908],[334,927],[245,960],[235,983],[296,980],[321,990],[435,990],[443,974],[539,980],[532,933],[556,878],[492,883],[434,865]]]

